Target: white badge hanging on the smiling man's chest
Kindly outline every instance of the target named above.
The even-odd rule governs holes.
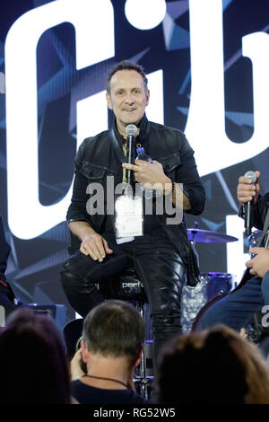
[[[121,195],[115,203],[116,237],[143,236],[143,198]]]

